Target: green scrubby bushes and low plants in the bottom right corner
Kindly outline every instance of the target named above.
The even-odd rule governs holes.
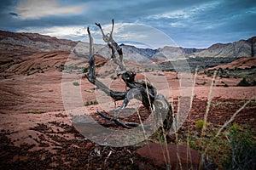
[[[203,122],[200,121],[198,124],[202,127]],[[210,132],[216,132],[218,127],[209,126],[208,133],[204,136],[201,136],[201,132],[195,131],[187,134],[189,147],[204,155],[205,167],[217,169],[216,161],[218,161],[224,169],[255,169],[256,144],[250,127],[234,123],[216,136],[216,133]]]

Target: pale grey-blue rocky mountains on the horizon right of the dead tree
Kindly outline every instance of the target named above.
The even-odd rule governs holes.
[[[230,43],[216,43],[209,48],[181,48],[169,47],[158,49],[136,48],[131,45],[121,44],[125,59],[145,62],[148,59],[158,62],[166,60],[193,58],[227,58],[227,62],[244,57],[256,55],[256,37]],[[230,60],[231,59],[231,60]],[[201,59],[200,59],[201,60]],[[222,59],[223,60],[223,59]],[[224,59],[225,60],[225,59]],[[210,64],[212,65],[212,64]]]

